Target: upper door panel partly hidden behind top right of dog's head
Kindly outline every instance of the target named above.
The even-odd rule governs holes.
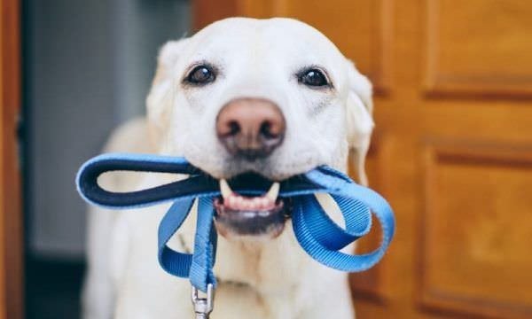
[[[275,15],[301,19],[327,35],[372,79],[377,93],[389,89],[390,0],[277,0],[274,3]]]

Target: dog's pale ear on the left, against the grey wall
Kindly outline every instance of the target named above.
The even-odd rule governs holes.
[[[157,70],[152,88],[146,98],[148,123],[152,142],[158,148],[165,128],[168,128],[170,111],[175,94],[176,76],[173,69],[188,39],[170,41],[162,46],[157,58]]]

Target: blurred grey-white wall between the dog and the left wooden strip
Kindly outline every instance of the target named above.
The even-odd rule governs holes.
[[[30,253],[80,258],[80,164],[144,113],[158,48],[190,25],[184,0],[27,0],[26,207]]]

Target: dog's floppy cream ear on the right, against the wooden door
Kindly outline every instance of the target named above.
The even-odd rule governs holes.
[[[365,157],[370,148],[373,130],[372,83],[348,63],[348,102],[346,110],[348,145],[358,173],[359,183],[367,185]]]

